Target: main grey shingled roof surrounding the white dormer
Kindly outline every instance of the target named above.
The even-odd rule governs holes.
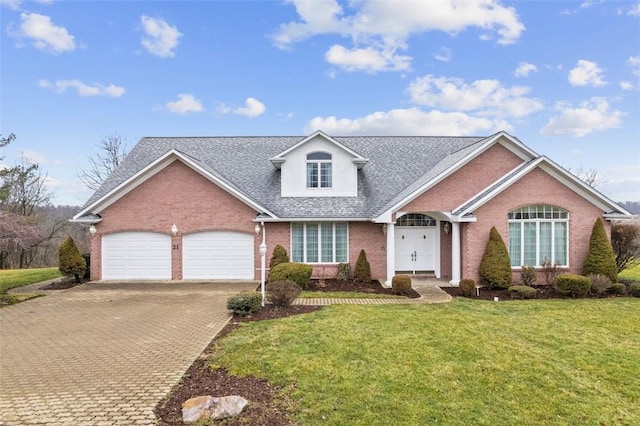
[[[371,219],[473,151],[485,137],[333,137],[369,161],[357,197],[282,197],[269,161],[306,136],[146,137],[82,210],[175,150],[279,218]]]

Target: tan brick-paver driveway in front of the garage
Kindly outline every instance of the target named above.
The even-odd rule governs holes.
[[[89,283],[0,309],[0,424],[155,424],[255,283]]]

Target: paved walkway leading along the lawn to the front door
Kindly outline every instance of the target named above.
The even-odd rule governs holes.
[[[411,279],[411,286],[420,294],[418,299],[342,299],[342,298],[298,298],[294,305],[406,305],[424,303],[445,303],[451,296],[440,288],[445,281],[436,279]]]

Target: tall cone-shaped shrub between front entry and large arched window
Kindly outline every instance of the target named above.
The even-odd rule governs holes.
[[[509,253],[495,226],[491,228],[489,233],[489,241],[480,262],[479,272],[480,284],[482,285],[492,289],[511,286],[512,273]]]

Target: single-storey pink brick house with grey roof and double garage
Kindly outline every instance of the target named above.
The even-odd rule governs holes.
[[[628,211],[505,132],[489,137],[143,138],[72,221],[93,280],[258,279],[259,245],[331,277],[478,279],[495,226],[514,273],[579,273],[591,227]],[[256,225],[261,225],[256,227]],[[259,231],[256,233],[256,231]]]

